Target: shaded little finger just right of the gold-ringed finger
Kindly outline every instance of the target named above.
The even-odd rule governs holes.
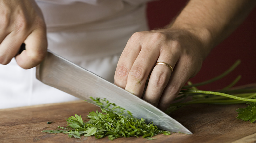
[[[190,62],[187,60],[179,60],[179,62],[176,63],[175,70],[173,70],[171,78],[159,100],[158,108],[160,110],[166,110],[179,94],[183,85],[194,73],[190,71],[190,69],[193,69],[193,67],[190,67]]]

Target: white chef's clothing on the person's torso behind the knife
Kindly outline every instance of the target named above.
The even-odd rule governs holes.
[[[116,65],[130,36],[148,30],[149,0],[36,0],[46,26],[48,49],[114,82]],[[0,65],[0,109],[77,100],[35,78],[15,59]]]

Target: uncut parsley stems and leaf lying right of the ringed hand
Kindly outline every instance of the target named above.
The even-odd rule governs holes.
[[[250,120],[251,122],[254,122],[256,119],[256,89],[230,89],[240,80],[240,75],[238,75],[238,77],[228,86],[215,92],[202,91],[197,88],[198,86],[209,84],[228,75],[240,64],[240,62],[240,60],[236,61],[227,71],[208,81],[197,84],[188,82],[188,85],[182,88],[179,95],[174,100],[175,103],[172,103],[169,106],[169,108],[166,110],[166,113],[170,114],[172,111],[177,110],[183,106],[198,103],[221,105],[247,103],[249,104],[248,107],[239,108],[236,110],[238,112],[238,116],[236,118],[243,121]]]

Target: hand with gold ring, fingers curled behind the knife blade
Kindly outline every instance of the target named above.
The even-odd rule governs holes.
[[[128,40],[115,72],[115,84],[165,110],[187,80],[200,70],[209,50],[191,32],[153,30],[137,32]],[[172,66],[173,72],[165,62]]]

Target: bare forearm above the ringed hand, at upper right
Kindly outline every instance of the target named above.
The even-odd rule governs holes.
[[[189,30],[208,53],[243,22],[255,5],[255,0],[190,0],[168,28]]]

